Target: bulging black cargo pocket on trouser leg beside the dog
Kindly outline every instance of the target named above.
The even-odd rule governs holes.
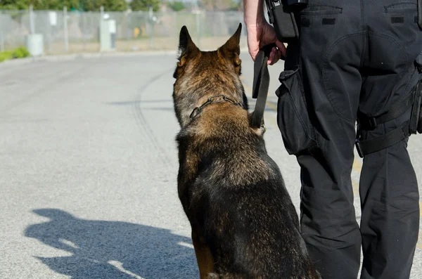
[[[299,71],[281,72],[279,80],[277,124],[288,154],[299,155],[316,145]]]

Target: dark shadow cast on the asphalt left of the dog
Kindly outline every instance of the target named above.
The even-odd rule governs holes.
[[[135,223],[78,219],[60,209],[33,212],[49,221],[28,226],[25,236],[71,253],[37,259],[72,279],[198,278],[190,238]]]

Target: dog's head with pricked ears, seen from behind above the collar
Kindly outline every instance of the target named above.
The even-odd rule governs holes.
[[[190,121],[194,108],[205,103],[210,96],[225,95],[248,108],[241,79],[239,41],[242,25],[217,51],[200,51],[193,43],[186,26],[179,37],[179,62],[173,77],[174,110],[183,127]]]

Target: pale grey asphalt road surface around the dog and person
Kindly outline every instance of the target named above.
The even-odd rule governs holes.
[[[177,197],[175,63],[160,54],[0,65],[0,278],[198,278]],[[282,68],[270,69],[271,92]],[[243,82],[250,96],[247,54]],[[299,167],[274,108],[271,93],[267,149],[298,208]],[[418,181],[421,140],[409,142]],[[422,278],[422,241],[411,278]]]

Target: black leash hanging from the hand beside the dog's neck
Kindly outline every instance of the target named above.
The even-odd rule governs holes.
[[[253,65],[253,86],[252,98],[257,99],[255,110],[252,112],[252,128],[260,128],[264,125],[264,110],[267,103],[267,94],[269,89],[269,72],[267,61],[271,49],[276,44],[264,46],[258,52]]]

